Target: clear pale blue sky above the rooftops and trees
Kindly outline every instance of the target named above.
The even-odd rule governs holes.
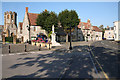
[[[82,22],[90,19],[92,25],[98,27],[113,27],[113,22],[118,20],[118,2],[2,2],[2,25],[6,11],[17,13],[17,25],[23,22],[25,7],[30,13],[40,13],[45,9],[57,14],[65,9],[75,10]]]

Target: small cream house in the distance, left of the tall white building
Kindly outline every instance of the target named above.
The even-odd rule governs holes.
[[[114,27],[105,28],[104,38],[106,40],[114,40]]]

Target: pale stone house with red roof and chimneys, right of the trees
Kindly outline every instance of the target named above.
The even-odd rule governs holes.
[[[78,41],[96,41],[102,40],[102,31],[97,26],[92,26],[90,19],[87,22],[79,22]]]

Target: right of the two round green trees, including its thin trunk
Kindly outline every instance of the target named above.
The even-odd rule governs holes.
[[[58,20],[61,22],[62,27],[67,33],[66,37],[68,37],[68,33],[69,33],[68,29],[70,28],[70,26],[72,28],[75,28],[79,24],[79,18],[75,10],[69,11],[66,9],[60,12],[58,15]]]

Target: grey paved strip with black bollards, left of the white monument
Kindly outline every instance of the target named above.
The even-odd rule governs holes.
[[[30,45],[30,44],[3,44],[2,54],[40,51],[41,49],[45,49],[45,48],[43,47],[41,48],[41,46],[35,46],[35,45]]]

